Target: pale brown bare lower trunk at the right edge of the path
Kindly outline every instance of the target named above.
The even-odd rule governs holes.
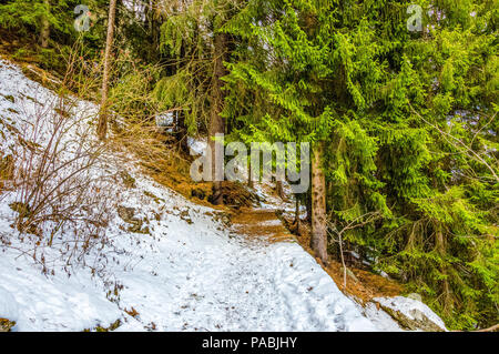
[[[327,264],[326,178],[322,166],[324,146],[318,143],[312,159],[312,240],[316,256]]]

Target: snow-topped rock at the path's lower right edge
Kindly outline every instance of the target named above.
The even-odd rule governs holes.
[[[406,330],[425,332],[447,331],[444,321],[430,307],[418,300],[395,296],[375,297],[373,301]]]

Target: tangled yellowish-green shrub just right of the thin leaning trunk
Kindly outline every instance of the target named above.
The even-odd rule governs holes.
[[[114,113],[110,142],[125,149],[129,156],[140,161],[152,174],[182,170],[189,172],[190,162],[180,151],[176,139],[159,128],[156,117],[173,113],[180,108],[165,108],[151,93],[153,78],[160,70],[153,65],[136,63],[126,52],[119,52],[114,70],[120,74],[110,91],[110,109]]]

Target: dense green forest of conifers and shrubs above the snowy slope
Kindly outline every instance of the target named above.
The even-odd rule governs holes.
[[[316,256],[355,252],[455,330],[499,313],[498,21],[493,0],[0,0],[12,58],[71,75],[101,140],[167,113],[186,160],[190,136],[309,143]]]

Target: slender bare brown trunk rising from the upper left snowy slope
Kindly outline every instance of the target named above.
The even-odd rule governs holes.
[[[104,54],[104,74],[102,78],[102,100],[101,111],[99,114],[98,136],[100,140],[105,140],[108,135],[108,90],[109,90],[109,71],[111,61],[111,51],[114,37],[114,18],[116,13],[116,0],[111,0],[109,4],[109,19],[108,19],[108,38],[105,40],[105,54]]]

